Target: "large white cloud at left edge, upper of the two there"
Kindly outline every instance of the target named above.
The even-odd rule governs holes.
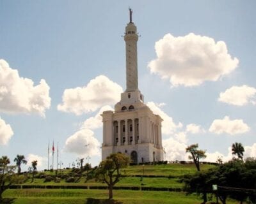
[[[20,77],[16,69],[0,59],[0,112],[39,113],[44,117],[45,109],[51,106],[49,89],[44,79],[34,86],[31,79]]]

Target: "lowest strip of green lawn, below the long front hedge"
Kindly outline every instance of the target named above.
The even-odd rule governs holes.
[[[163,191],[120,191],[113,192],[114,199],[124,204],[196,204],[201,203],[195,195]],[[9,189],[4,192],[4,198],[15,198],[13,204],[97,204],[108,198],[107,190],[82,189]],[[227,202],[234,204],[235,202]]]

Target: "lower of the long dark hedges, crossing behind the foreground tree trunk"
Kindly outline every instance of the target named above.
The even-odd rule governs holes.
[[[108,189],[108,186],[40,186],[40,185],[13,185],[10,189]],[[181,188],[172,187],[146,187],[146,186],[114,186],[115,190],[132,190],[132,191],[182,191]]]

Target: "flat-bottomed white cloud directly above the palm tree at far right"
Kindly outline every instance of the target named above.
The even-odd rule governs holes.
[[[216,119],[212,122],[209,131],[216,134],[228,133],[230,135],[246,133],[250,131],[249,126],[241,119],[230,120],[228,116]]]

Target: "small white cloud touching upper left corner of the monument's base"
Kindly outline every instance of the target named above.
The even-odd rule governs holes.
[[[106,110],[113,110],[111,106],[103,106],[100,108],[99,112],[94,116],[86,119],[83,122],[83,125],[81,129],[97,129],[102,127],[102,117],[100,114],[102,114]]]

